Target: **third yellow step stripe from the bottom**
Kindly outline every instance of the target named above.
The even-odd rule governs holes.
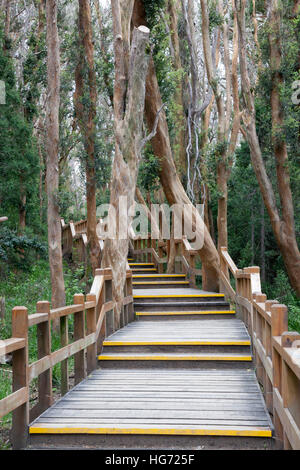
[[[103,346],[250,346],[240,341],[104,341]]]

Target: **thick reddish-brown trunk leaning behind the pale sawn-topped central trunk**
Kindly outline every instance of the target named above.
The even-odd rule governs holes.
[[[146,24],[145,10],[141,0],[135,0],[133,24],[135,26]],[[157,113],[161,107],[162,100],[157,82],[155,66],[153,59],[150,59],[145,99],[145,116],[149,129],[153,129]],[[164,188],[168,203],[170,205],[191,205],[191,201],[189,200],[176,172],[170,145],[168,124],[164,111],[160,112],[157,131],[151,142],[153,151],[160,161],[160,181]],[[209,231],[203,223],[203,220],[196,208],[193,208],[193,219],[197,222],[197,236],[199,238],[203,238],[203,247],[199,249],[202,267],[204,268],[202,287],[205,290],[218,291],[220,270],[218,252],[211,239]],[[194,221],[190,220],[190,223],[195,230],[196,225]]]

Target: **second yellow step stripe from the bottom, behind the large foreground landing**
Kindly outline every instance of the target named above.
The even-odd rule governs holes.
[[[98,356],[99,361],[252,361],[251,356]]]

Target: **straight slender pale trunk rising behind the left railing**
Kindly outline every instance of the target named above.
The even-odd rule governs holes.
[[[47,0],[47,105],[46,154],[48,196],[48,248],[51,273],[52,308],[65,305],[65,285],[62,264],[61,225],[58,207],[59,154],[59,89],[60,54],[57,29],[57,1]]]

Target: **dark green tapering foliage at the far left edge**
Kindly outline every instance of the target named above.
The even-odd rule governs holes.
[[[32,126],[24,117],[23,103],[17,88],[14,64],[3,51],[3,33],[0,30],[0,80],[5,82],[6,104],[0,105],[0,200],[1,211],[9,216],[9,224],[16,227],[21,196],[26,196],[27,216],[36,220],[37,175],[39,161]]]

